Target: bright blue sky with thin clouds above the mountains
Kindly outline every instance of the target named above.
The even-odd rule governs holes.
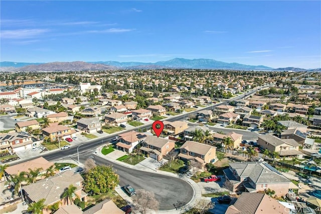
[[[320,1],[1,1],[0,61],[321,67]]]

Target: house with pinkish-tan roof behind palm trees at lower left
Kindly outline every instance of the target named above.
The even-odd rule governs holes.
[[[39,168],[42,168],[42,171],[40,171],[39,174],[45,174],[47,169],[52,165],[55,165],[54,162],[50,162],[43,157],[38,157],[32,160],[8,166],[8,168],[5,169],[5,177],[7,180],[10,180],[10,175],[19,174],[21,172],[29,172],[29,169],[35,170]]]

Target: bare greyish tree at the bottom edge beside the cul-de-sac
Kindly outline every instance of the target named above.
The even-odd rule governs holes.
[[[146,191],[144,189],[137,189],[136,195],[132,197],[132,201],[135,210],[138,213],[149,213],[149,209],[158,210],[158,201],[155,199],[153,192]]]

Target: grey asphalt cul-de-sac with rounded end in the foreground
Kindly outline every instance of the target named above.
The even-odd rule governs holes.
[[[188,203],[193,197],[192,186],[180,178],[127,168],[90,152],[82,153],[79,158],[80,162],[84,163],[89,156],[94,156],[96,164],[111,165],[119,174],[121,187],[130,184],[136,190],[144,189],[153,192],[159,202],[159,210],[175,209],[174,202],[180,200]],[[73,158],[76,159],[77,155]]]

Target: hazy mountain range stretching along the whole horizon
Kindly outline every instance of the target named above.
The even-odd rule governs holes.
[[[263,65],[253,66],[239,63],[226,63],[212,59],[183,59],[175,58],[168,61],[155,63],[142,62],[52,62],[52,63],[22,63],[0,62],[0,71],[94,71],[94,70],[117,70],[117,69],[222,69],[222,70],[255,70],[255,71],[310,71],[301,68],[271,68]],[[321,69],[311,69],[321,71]]]

